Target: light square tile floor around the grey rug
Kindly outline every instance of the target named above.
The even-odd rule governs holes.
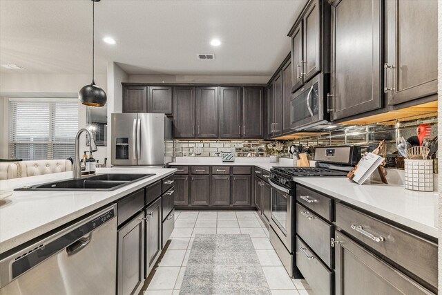
[[[305,280],[289,277],[255,211],[176,211],[171,242],[140,294],[180,293],[195,234],[249,234],[272,295],[313,294]]]

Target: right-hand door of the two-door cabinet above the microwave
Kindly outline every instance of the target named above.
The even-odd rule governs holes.
[[[320,71],[320,7],[319,0],[311,2],[305,17],[304,25],[304,57],[302,58],[302,77],[307,82]]]

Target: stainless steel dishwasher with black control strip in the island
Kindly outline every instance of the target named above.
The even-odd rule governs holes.
[[[0,294],[115,294],[116,217],[113,205],[26,248],[6,252],[0,260]]]

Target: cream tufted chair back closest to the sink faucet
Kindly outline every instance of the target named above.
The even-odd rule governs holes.
[[[17,162],[19,177],[72,171],[70,160],[37,160]]]

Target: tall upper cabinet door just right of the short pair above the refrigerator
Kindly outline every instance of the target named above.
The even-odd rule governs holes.
[[[173,130],[175,138],[195,137],[195,87],[173,88]]]

